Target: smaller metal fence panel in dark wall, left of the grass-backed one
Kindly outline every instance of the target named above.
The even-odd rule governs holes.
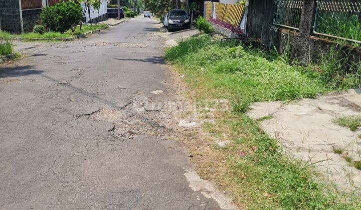
[[[275,0],[273,24],[298,30],[303,0]]]

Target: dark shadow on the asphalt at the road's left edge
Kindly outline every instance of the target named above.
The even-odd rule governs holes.
[[[35,70],[34,65],[23,66],[0,66],[0,77],[16,77],[30,74],[41,74],[43,70]]]

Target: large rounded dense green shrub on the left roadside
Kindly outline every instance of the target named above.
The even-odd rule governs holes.
[[[44,8],[40,17],[51,30],[63,33],[83,19],[82,7],[72,1],[56,3]]]

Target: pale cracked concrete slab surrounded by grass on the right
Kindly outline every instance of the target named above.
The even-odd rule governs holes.
[[[361,171],[351,165],[361,160],[361,131],[351,131],[333,122],[340,116],[360,114],[361,94],[355,90],[282,102],[258,102],[248,115],[254,119],[271,115],[260,126],[278,138],[296,158],[316,163],[321,175],[339,186],[352,188],[361,184]]]

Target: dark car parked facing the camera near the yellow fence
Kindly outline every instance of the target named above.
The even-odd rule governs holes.
[[[171,9],[165,15],[163,24],[168,31],[191,27],[189,16],[184,9]]]

